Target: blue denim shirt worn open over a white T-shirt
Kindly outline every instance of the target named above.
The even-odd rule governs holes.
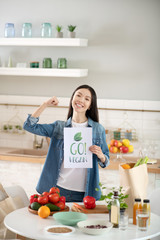
[[[52,124],[38,124],[39,118],[31,117],[28,115],[27,120],[24,122],[24,129],[28,132],[46,136],[51,138],[46,161],[38,181],[36,190],[39,193],[49,191],[53,186],[56,186],[61,165],[64,159],[64,127],[71,126],[71,118],[66,122],[55,121]],[[99,188],[99,169],[98,164],[105,168],[109,165],[109,150],[106,143],[106,135],[104,127],[98,122],[94,122],[88,118],[88,127],[92,127],[92,143],[101,147],[103,154],[106,157],[104,163],[100,161],[97,155],[93,154],[93,167],[87,169],[86,189],[85,196],[93,196],[98,200],[101,192],[96,191]]]

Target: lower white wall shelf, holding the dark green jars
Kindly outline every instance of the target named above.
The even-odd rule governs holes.
[[[0,67],[0,75],[5,76],[38,76],[38,77],[86,77],[88,69],[56,68],[5,68]]]

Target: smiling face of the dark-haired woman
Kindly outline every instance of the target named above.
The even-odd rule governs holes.
[[[72,99],[73,110],[79,113],[86,113],[92,101],[91,92],[86,88],[78,89]]]

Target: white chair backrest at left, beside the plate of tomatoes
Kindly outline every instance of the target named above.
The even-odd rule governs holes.
[[[19,196],[23,203],[24,203],[24,206],[27,207],[29,206],[29,199],[28,199],[28,196],[25,192],[25,190],[19,186],[19,185],[13,185],[13,186],[9,186],[9,187],[4,187],[6,193],[8,194],[8,196],[10,197],[16,197],[16,196]]]

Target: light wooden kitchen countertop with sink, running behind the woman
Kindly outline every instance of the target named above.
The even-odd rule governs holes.
[[[30,163],[41,163],[43,164],[46,159],[47,150],[42,149],[22,149],[25,151],[20,152],[20,149],[16,148],[0,148],[0,160],[3,161],[14,161],[14,162],[30,162]],[[19,153],[17,154],[16,151]],[[28,154],[28,152],[29,154]],[[32,154],[33,152],[33,154]],[[110,165],[104,170],[118,170],[119,164],[123,163],[119,160],[113,161],[115,156],[110,156]],[[136,162],[138,157],[124,156],[127,162]],[[160,173],[160,159],[157,159],[156,164],[148,164],[149,173]]]

